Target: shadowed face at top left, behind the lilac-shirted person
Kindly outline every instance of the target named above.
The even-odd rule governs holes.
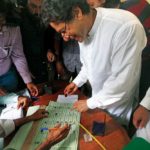
[[[43,0],[28,0],[28,8],[34,15],[39,16],[41,14],[41,5]]]

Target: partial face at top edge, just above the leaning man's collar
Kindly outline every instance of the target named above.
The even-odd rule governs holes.
[[[92,8],[97,8],[97,7],[102,7],[103,4],[105,3],[105,0],[87,0],[87,3],[88,3]]]

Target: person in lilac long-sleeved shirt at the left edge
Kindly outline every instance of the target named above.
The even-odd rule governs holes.
[[[0,1],[0,95],[17,89],[15,66],[31,95],[37,96],[38,89],[32,83],[23,52],[20,28],[7,20],[12,15],[10,5],[4,0]]]

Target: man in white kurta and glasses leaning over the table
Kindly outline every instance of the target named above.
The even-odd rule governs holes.
[[[44,0],[42,18],[64,40],[79,42],[83,65],[64,94],[73,94],[89,80],[92,97],[75,102],[73,108],[79,112],[96,107],[105,109],[127,125],[137,96],[141,53],[146,45],[139,20],[124,10],[92,9],[86,0]]]

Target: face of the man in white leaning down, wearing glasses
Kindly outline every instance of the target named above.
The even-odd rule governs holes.
[[[89,32],[89,27],[87,25],[89,18],[82,13],[80,8],[76,8],[75,12],[73,20],[61,23],[51,22],[50,25],[57,32],[61,33],[65,41],[73,39],[82,42],[85,40]]]

